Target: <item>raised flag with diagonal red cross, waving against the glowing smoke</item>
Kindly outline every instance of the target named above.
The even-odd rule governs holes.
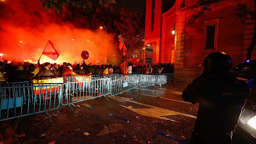
[[[51,58],[52,60],[57,60],[60,56],[60,50],[56,45],[54,45],[50,40],[46,44],[44,51],[42,53],[43,55]]]

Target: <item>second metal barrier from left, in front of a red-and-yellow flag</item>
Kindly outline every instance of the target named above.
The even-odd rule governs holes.
[[[111,93],[109,78],[69,76],[68,83],[62,84],[61,87],[65,90],[61,108],[68,106],[71,111],[71,105],[76,107],[74,103],[102,96],[108,100],[106,95]]]

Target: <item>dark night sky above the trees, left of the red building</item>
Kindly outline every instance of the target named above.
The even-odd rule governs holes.
[[[92,0],[93,7],[100,8],[99,0]],[[132,12],[138,12],[143,15],[143,10],[146,7],[146,0],[116,0],[113,5],[114,14],[117,15],[121,8],[126,6]],[[93,9],[93,8],[92,8]]]

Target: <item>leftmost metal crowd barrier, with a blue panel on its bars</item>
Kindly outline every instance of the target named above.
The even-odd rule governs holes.
[[[51,118],[48,111],[60,106],[59,85],[0,87],[0,121],[38,113]]]

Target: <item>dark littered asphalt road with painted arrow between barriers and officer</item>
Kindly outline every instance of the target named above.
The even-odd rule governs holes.
[[[20,143],[182,143],[194,128],[198,104],[181,98],[184,87],[124,92],[57,109],[49,124],[40,114],[12,120]],[[160,97],[160,98],[159,98]],[[132,98],[132,99],[131,99]],[[129,122],[128,122],[129,121]],[[89,135],[88,135],[89,133]]]

